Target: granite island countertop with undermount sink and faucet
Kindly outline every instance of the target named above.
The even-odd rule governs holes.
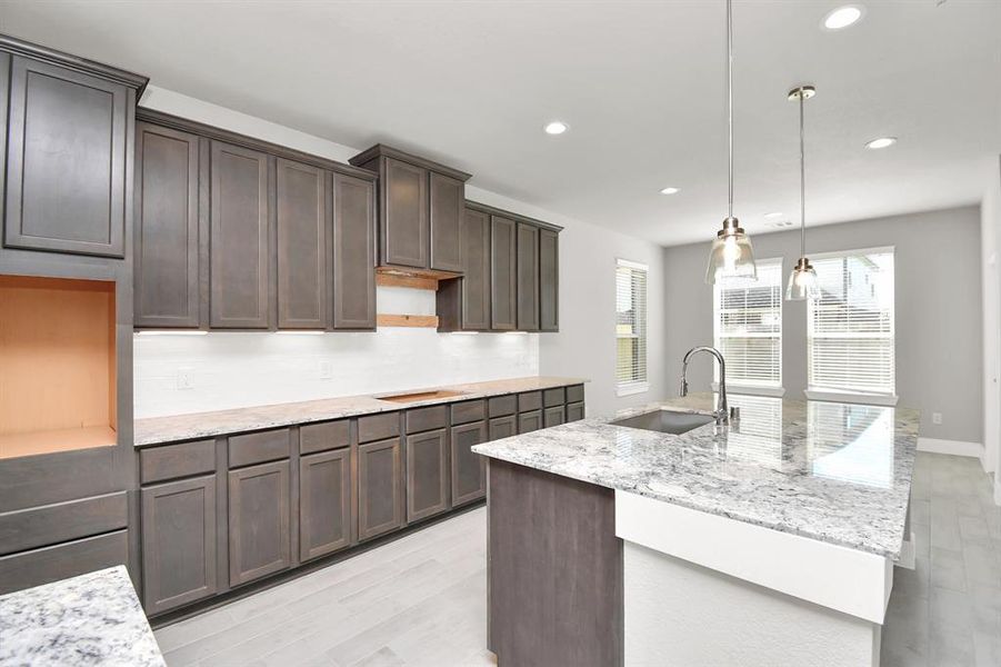
[[[477,445],[473,451],[691,509],[899,559],[920,412],[731,396],[733,426],[613,426],[654,409],[705,414],[713,395],[649,404]]]

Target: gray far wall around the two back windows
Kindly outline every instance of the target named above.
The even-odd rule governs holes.
[[[751,230],[753,231],[753,230]],[[783,258],[783,275],[799,256],[799,230],[752,236],[759,259]],[[897,394],[922,411],[921,436],[982,442],[980,209],[968,207],[807,229],[807,255],[894,246]],[[705,285],[709,242],[664,249],[667,359],[712,345],[712,287]],[[784,287],[783,287],[784,289]],[[692,389],[712,378],[708,358],[691,371]],[[782,379],[787,398],[807,387],[807,305],[785,301]],[[941,412],[933,425],[931,414]]]

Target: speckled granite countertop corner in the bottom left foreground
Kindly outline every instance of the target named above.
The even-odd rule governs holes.
[[[162,667],[123,566],[0,596],[0,665]]]

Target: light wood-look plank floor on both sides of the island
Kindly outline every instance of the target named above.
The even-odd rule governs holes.
[[[170,667],[494,665],[486,516],[431,526],[157,640]],[[911,518],[918,567],[897,569],[883,666],[1001,667],[1001,508],[980,464],[919,455]]]

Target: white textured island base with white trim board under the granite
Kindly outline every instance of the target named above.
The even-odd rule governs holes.
[[[889,558],[615,492],[625,665],[878,666]]]

